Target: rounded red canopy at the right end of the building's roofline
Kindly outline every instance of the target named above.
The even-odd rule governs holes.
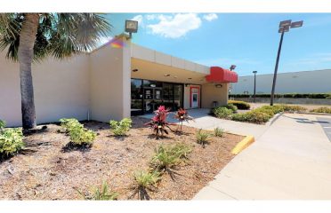
[[[210,75],[206,75],[206,81],[210,83],[237,83],[236,72],[222,67],[210,67]]]

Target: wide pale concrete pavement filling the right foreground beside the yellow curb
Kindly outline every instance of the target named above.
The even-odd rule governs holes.
[[[194,199],[331,199],[331,143],[321,117],[331,118],[281,115]]]

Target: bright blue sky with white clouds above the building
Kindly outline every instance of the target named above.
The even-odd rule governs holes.
[[[206,66],[229,68],[238,75],[273,73],[280,20],[303,20],[284,36],[279,72],[331,68],[331,13],[112,13],[113,29],[138,20],[133,43]],[[105,41],[109,38],[105,38]]]

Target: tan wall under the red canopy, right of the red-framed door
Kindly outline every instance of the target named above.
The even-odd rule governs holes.
[[[221,88],[216,88],[214,83],[206,83],[202,85],[202,107],[210,108],[213,106],[213,101],[218,101],[218,105],[228,104],[229,83],[222,83]]]

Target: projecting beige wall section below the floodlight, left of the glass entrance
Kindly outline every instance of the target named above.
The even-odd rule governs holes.
[[[124,48],[105,45],[93,51],[90,55],[92,120],[109,122],[130,116],[130,79],[130,43]]]

